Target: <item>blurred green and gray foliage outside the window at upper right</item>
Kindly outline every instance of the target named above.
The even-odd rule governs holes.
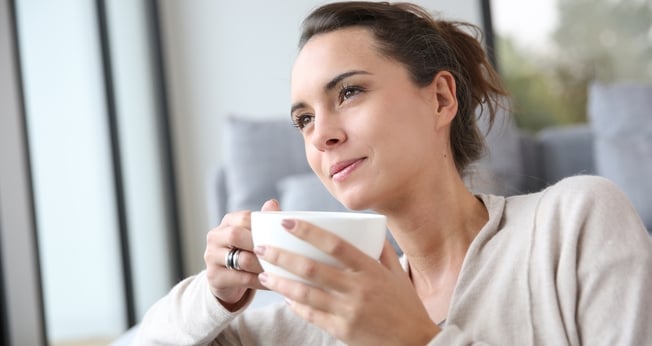
[[[545,53],[497,37],[498,67],[519,127],[586,122],[593,81],[652,82],[652,1],[558,0],[559,21]]]

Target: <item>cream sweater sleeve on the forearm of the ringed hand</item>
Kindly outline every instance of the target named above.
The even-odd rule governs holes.
[[[247,308],[229,312],[210,292],[206,273],[179,282],[145,314],[137,345],[209,345]]]

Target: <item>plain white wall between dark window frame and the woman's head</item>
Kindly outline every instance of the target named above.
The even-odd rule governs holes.
[[[443,17],[481,25],[478,0],[415,2]],[[203,268],[205,233],[215,226],[206,201],[221,162],[223,120],[229,114],[288,117],[299,26],[322,3],[161,2],[187,274]]]

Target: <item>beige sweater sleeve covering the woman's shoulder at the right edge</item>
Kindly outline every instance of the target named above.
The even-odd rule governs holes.
[[[641,218],[607,179],[574,177],[557,185],[542,204],[557,220],[556,280],[566,305],[560,309],[568,312],[567,332],[576,334],[570,339],[586,345],[649,344],[652,239]]]

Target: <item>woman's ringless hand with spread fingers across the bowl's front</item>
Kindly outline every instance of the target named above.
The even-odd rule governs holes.
[[[265,261],[314,283],[260,274],[262,284],[285,296],[297,315],[351,345],[425,345],[439,333],[389,242],[379,263],[308,222],[285,220],[283,225],[343,265],[337,268],[278,248],[256,247]]]

